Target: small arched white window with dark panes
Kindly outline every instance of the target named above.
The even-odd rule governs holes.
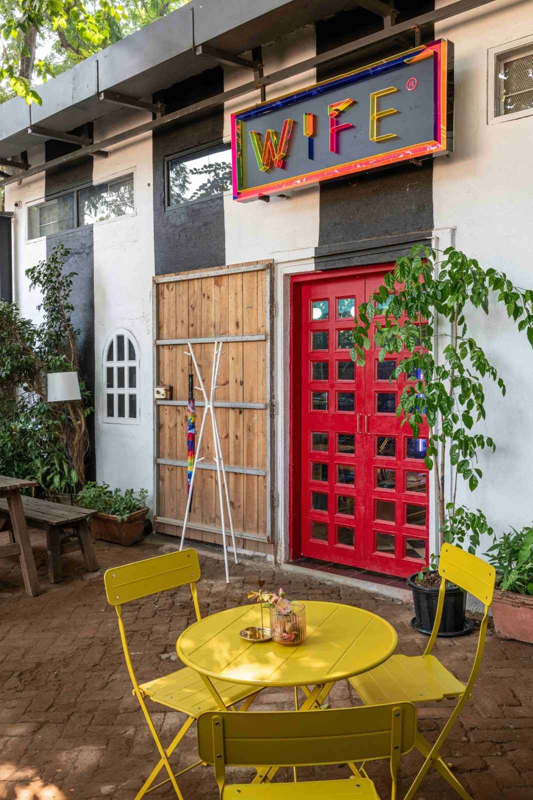
[[[104,348],[103,386],[105,422],[139,422],[140,350],[129,330],[116,330]]]

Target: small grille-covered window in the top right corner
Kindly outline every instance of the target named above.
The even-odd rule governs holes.
[[[506,50],[495,48],[493,91],[493,121],[533,114],[533,43]],[[489,109],[490,111],[491,109]]]

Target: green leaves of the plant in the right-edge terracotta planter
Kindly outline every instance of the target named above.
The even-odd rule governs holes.
[[[533,526],[511,531],[495,538],[485,555],[499,573],[499,589],[533,595]]]

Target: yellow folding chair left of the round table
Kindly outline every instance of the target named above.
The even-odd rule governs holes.
[[[182,550],[181,552],[169,553],[157,556],[156,558],[146,558],[145,561],[138,561],[133,564],[117,566],[112,570],[107,570],[104,575],[105,593],[111,606],[114,606],[118,617],[118,629],[121,634],[122,649],[126,666],[128,667],[129,677],[133,683],[133,694],[137,697],[142,712],[145,715],[150,733],[156,743],[160,760],[153,768],[145,783],[135,795],[135,800],[140,800],[145,794],[157,789],[165,783],[172,783],[178,798],[183,800],[183,796],[177,785],[176,778],[193,767],[201,764],[197,761],[184,770],[173,773],[169,764],[169,756],[173,754],[181,739],[185,736],[193,722],[204,711],[215,710],[218,708],[217,702],[211,696],[201,677],[189,667],[177,670],[162,678],[155,678],[153,681],[139,684],[131,658],[129,657],[128,642],[125,636],[124,621],[122,619],[122,606],[132,600],[140,600],[149,594],[168,589],[175,589],[178,586],[185,586],[189,583],[193,596],[194,610],[197,619],[201,619],[200,607],[198,606],[196,582],[200,578],[200,563],[195,550]],[[234,703],[245,700],[245,704],[240,710],[248,708],[253,698],[258,694],[257,686],[243,686],[242,684],[229,683],[224,681],[213,681],[217,693],[222,698],[226,708],[233,707]],[[175,711],[187,714],[185,723],[181,726],[176,737],[165,748],[157,736],[149,710],[146,707],[145,698],[153,702],[161,703]],[[236,714],[237,716],[237,714]],[[153,786],[157,774],[165,768],[169,778]]]

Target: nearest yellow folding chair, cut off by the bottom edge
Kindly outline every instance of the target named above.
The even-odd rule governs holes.
[[[221,800],[380,800],[364,762],[388,758],[396,800],[400,758],[415,745],[412,703],[321,711],[202,714],[200,758],[215,766]],[[363,762],[359,769],[354,762]],[[226,766],[318,766],[349,763],[351,778],[293,783],[226,785]]]

